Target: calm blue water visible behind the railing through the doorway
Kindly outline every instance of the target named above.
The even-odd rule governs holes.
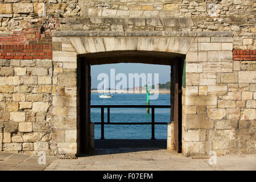
[[[146,94],[114,94],[112,98],[100,98],[98,93],[91,94],[91,105],[146,105]],[[150,105],[170,105],[170,94],[159,94]],[[101,121],[101,109],[90,109],[92,122]],[[107,109],[104,110],[107,122]],[[110,108],[110,122],[151,122],[146,108]],[[155,108],[155,122],[170,122],[169,108]],[[105,125],[105,139],[150,139],[151,125]],[[94,125],[94,138],[101,138],[101,126]],[[167,125],[155,125],[155,138],[167,138]]]

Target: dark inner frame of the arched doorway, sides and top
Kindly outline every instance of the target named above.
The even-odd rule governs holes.
[[[93,143],[93,131],[90,121],[90,66],[112,63],[145,63],[171,66],[171,118],[175,122],[174,148],[181,152],[181,84],[183,61],[185,55],[179,53],[158,51],[106,51],[86,53],[77,59],[77,90],[79,128],[77,137],[80,138],[80,152],[90,150]]]

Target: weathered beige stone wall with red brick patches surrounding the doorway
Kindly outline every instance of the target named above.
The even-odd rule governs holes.
[[[255,0],[0,4],[0,150],[76,154],[76,56],[136,49],[186,55],[184,155],[255,153]]]

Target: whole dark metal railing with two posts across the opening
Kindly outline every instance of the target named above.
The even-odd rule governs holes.
[[[151,125],[151,139],[155,139],[155,125],[167,125],[167,122],[155,122],[155,108],[170,108],[170,105],[91,105],[90,108],[101,108],[101,139],[104,139],[104,125]],[[108,109],[108,122],[104,122],[104,108]],[[110,123],[110,108],[151,108],[151,122],[112,122]]]

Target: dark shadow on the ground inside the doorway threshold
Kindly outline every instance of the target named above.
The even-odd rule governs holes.
[[[167,148],[166,142],[166,139],[95,139],[94,151],[80,156],[163,150]]]

